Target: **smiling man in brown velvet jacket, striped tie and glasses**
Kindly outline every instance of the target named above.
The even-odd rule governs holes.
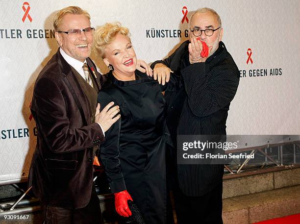
[[[30,108],[38,134],[29,187],[42,202],[45,224],[100,224],[93,160],[120,110],[113,102],[101,113],[97,106],[103,78],[89,58],[94,28],[88,12],[63,8],[53,26],[59,49],[37,77]]]

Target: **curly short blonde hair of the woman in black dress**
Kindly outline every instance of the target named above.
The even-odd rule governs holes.
[[[129,38],[129,29],[127,27],[121,26],[119,22],[106,23],[104,25],[101,25],[94,35],[96,54],[104,58],[104,50],[106,46],[112,43],[119,33]]]

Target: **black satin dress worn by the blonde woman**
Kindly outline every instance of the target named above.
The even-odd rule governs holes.
[[[147,224],[166,223],[166,109],[161,86],[135,71],[136,80],[119,81],[112,73],[98,94],[101,109],[114,101],[121,118],[105,132],[100,159],[112,193],[127,190]]]

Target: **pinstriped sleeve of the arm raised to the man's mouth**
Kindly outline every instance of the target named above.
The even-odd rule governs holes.
[[[195,116],[203,117],[224,108],[233,100],[239,84],[235,66],[220,65],[213,68],[210,77],[205,63],[194,63],[181,70],[188,104]]]

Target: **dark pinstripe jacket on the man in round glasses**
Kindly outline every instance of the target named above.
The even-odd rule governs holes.
[[[184,95],[178,96],[180,91],[165,92],[167,125],[175,146],[176,135],[226,134],[229,105],[239,84],[239,69],[223,42],[205,63],[182,66],[188,43],[182,43],[170,57],[151,65],[163,63],[172,71],[180,71],[183,78]],[[222,183],[223,173],[223,165],[177,165],[179,187],[188,196],[207,194]]]

